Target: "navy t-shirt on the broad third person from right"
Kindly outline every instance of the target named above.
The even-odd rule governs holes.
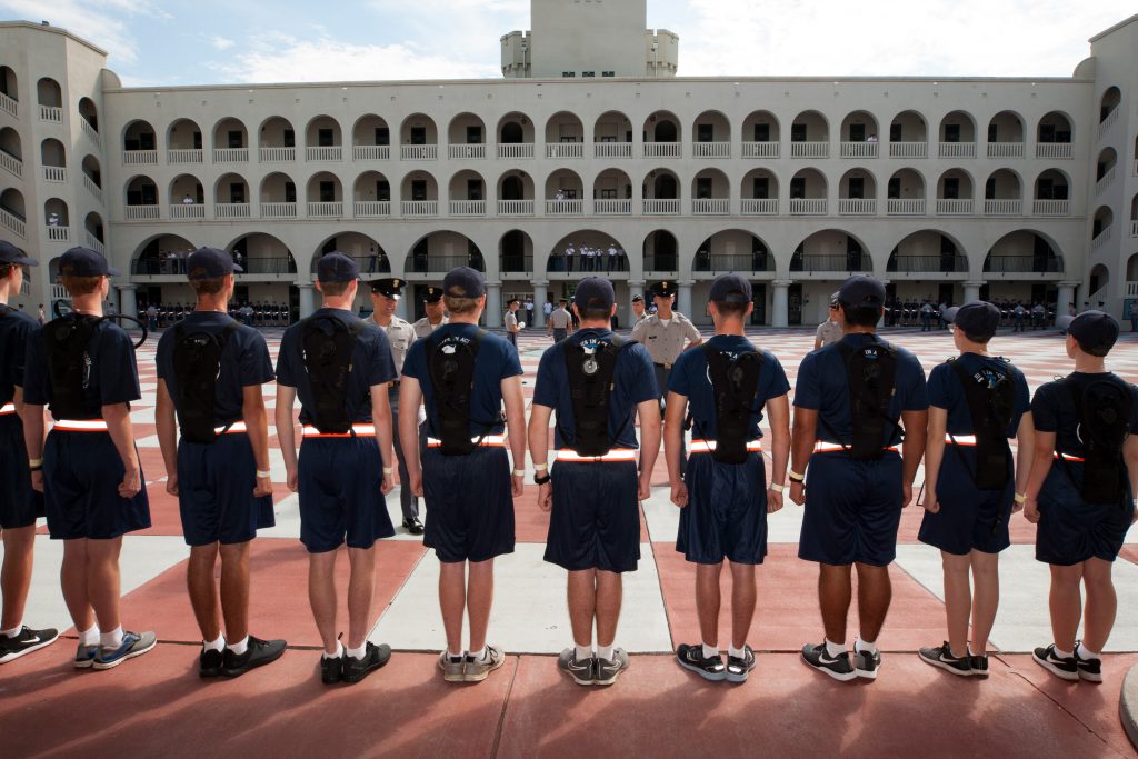
[[[872,335],[847,335],[838,343],[832,343],[802,358],[798,369],[798,385],[794,388],[794,405],[818,412],[818,428],[815,432],[817,439],[833,440],[835,434],[839,437],[835,443],[849,443],[851,439],[853,422],[850,412],[850,383],[846,358],[839,346],[846,345],[858,349],[873,340]],[[890,345],[880,338],[877,341]],[[897,422],[902,411],[929,409],[929,393],[925,387],[924,370],[917,357],[905,348],[892,347],[897,350],[897,373],[893,379],[893,398],[889,404],[889,418]],[[828,429],[826,424],[830,426]],[[833,429],[833,432],[830,429]],[[887,424],[883,438],[882,447],[897,445],[899,436],[891,424]]]

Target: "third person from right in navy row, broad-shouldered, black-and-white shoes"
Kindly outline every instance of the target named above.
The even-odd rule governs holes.
[[[874,679],[877,635],[892,596],[889,564],[924,454],[929,396],[916,356],[875,335],[885,302],[881,282],[851,277],[838,299],[844,337],[802,360],[794,391],[787,476],[791,500],[806,503],[798,555],[818,562],[826,633],[822,643],[802,647],[802,660],[839,680]],[[846,618],[853,564],[860,634],[851,662]]]

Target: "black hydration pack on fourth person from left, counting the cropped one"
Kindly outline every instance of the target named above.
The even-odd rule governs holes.
[[[345,435],[352,430],[348,415],[348,379],[352,353],[363,331],[363,322],[345,324],[329,314],[304,320],[300,347],[315,405],[310,409],[313,426],[324,435]]]

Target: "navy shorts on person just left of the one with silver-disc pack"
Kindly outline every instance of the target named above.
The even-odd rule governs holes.
[[[423,545],[444,563],[486,561],[513,553],[513,494],[505,448],[465,456],[423,456]]]

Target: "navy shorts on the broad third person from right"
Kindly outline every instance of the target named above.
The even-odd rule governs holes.
[[[806,477],[798,556],[824,564],[885,567],[897,555],[901,457],[853,461],[842,451],[816,453]]]

